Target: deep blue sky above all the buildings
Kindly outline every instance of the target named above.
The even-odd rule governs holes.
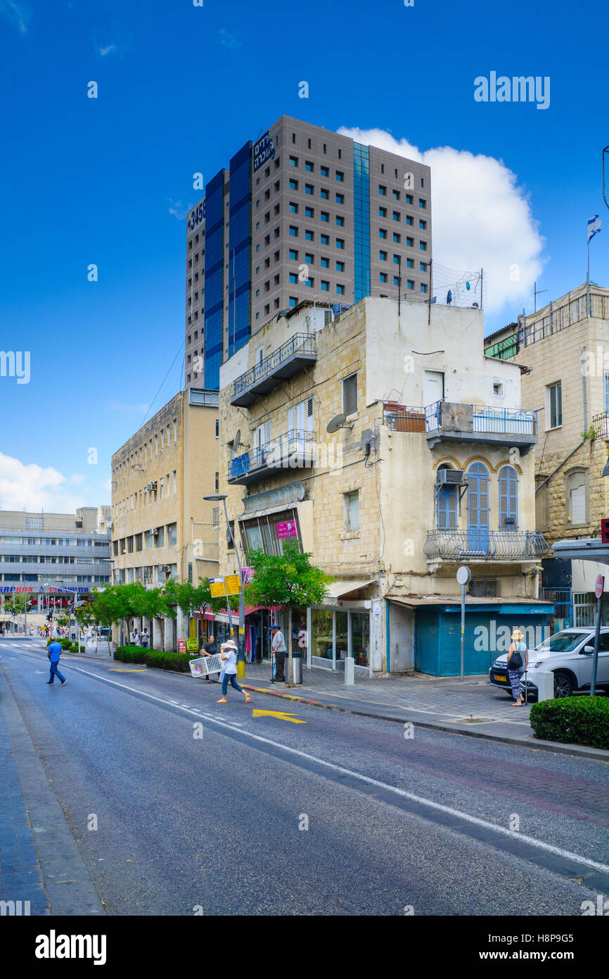
[[[606,211],[608,20],[590,0],[0,0],[0,349],[31,358],[28,384],[0,378],[0,453],[13,460],[0,458],[0,506],[109,501],[111,452],[168,371],[152,412],[181,386],[193,173],[209,179],[282,113],[381,129],[423,154],[454,148],[460,184],[450,185],[457,158],[438,160],[456,267],[520,261],[528,235],[537,253],[523,269],[525,279],[540,269],[541,303],[584,281],[587,218]],[[474,78],[491,70],[549,76],[549,108],[475,102]],[[308,99],[298,98],[301,80]],[[492,180],[479,249],[469,228],[458,265],[451,208],[475,198],[478,157],[514,174],[522,221],[512,223],[509,193],[494,207]],[[434,197],[435,239],[438,207]],[[436,239],[437,257],[438,248]],[[601,284],[608,249],[609,212],[591,243]],[[98,282],[87,281],[93,262]],[[522,290],[523,300],[498,306],[496,289],[487,332],[523,305],[532,311],[528,281]]]

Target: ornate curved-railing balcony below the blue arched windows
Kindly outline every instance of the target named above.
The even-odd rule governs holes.
[[[537,561],[549,544],[537,531],[436,530],[423,544],[430,561]]]

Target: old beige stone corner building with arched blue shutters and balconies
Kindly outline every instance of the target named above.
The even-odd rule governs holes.
[[[457,673],[462,564],[466,672],[488,668],[498,626],[544,621],[536,415],[520,368],[482,350],[479,309],[368,298],[340,315],[301,303],[222,366],[220,489],[243,563],[291,536],[335,579],[292,624],[308,667],[349,652],[370,676]],[[220,569],[237,569],[224,544]],[[264,615],[251,623],[263,638]]]

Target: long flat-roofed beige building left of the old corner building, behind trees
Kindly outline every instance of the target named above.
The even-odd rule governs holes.
[[[196,583],[215,576],[218,512],[202,497],[218,488],[217,458],[218,394],[196,388],[173,397],[114,452],[115,583],[153,587],[169,578]],[[180,614],[175,623],[144,625],[154,648],[164,649],[188,628]]]

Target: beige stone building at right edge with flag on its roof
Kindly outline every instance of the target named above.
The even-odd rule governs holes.
[[[584,284],[485,343],[527,367],[523,403],[540,418],[537,529],[550,544],[599,536],[609,514],[609,290],[590,286],[589,315],[587,303]],[[544,561],[546,586],[572,588],[578,624],[588,625],[599,571],[606,566]]]

